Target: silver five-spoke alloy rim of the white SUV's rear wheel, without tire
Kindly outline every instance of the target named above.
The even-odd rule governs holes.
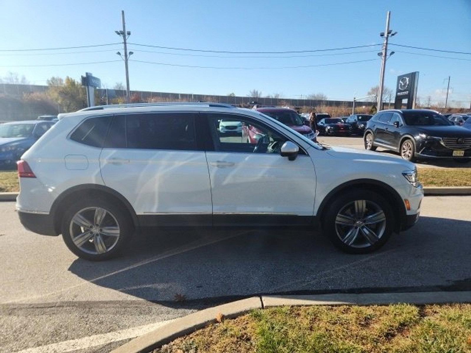
[[[69,229],[75,246],[91,255],[104,254],[113,249],[121,233],[116,217],[101,207],[78,211],[72,217]]]

